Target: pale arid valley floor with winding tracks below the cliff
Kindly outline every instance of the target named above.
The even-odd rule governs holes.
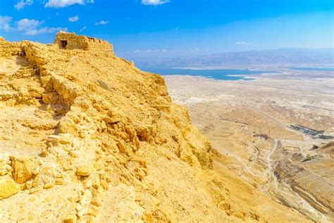
[[[264,68],[261,68],[264,69]],[[334,143],[290,125],[333,135],[333,71],[292,71],[221,81],[165,76],[173,102],[220,153],[217,171],[230,171],[318,222],[333,221]]]

